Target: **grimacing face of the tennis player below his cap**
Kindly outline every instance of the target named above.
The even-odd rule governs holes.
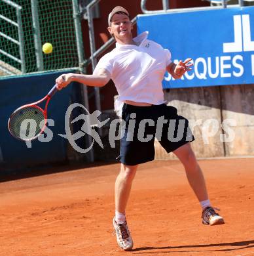
[[[111,26],[107,29],[115,39],[132,36],[132,22],[126,14],[114,14],[111,18]]]

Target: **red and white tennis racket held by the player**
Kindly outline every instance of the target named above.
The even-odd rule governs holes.
[[[43,133],[47,123],[48,102],[58,91],[56,86],[41,100],[21,106],[10,115],[8,129],[13,137],[27,141],[37,139]],[[38,106],[43,101],[46,101],[44,110]]]

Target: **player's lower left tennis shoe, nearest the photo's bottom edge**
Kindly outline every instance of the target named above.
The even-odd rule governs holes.
[[[132,236],[130,236],[130,231],[126,221],[123,224],[117,224],[114,217],[113,226],[115,228],[115,234],[117,236],[117,244],[122,249],[124,249],[124,251],[128,251],[132,249],[133,247]]]

